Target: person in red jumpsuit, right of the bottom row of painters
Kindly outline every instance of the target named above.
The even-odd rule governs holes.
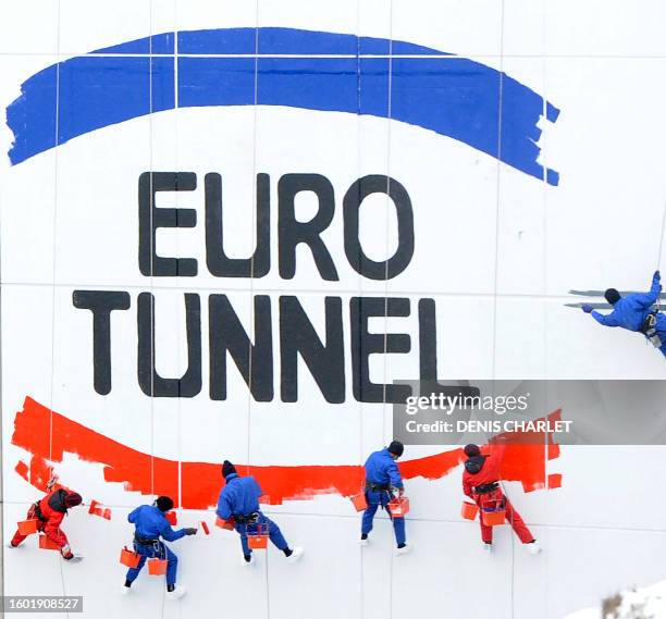
[[[478,506],[481,512],[493,511],[495,509],[506,510],[506,519],[509,521],[516,535],[527,545],[532,555],[541,552],[541,547],[520,515],[514,509],[509,499],[502,492],[499,480],[499,463],[504,456],[506,445],[493,444],[489,455],[481,454],[478,445],[467,445],[465,455],[465,472],[462,473],[462,492],[469,496]],[[493,528],[483,524],[483,518],[479,513],[481,524],[481,538],[483,548],[488,552],[493,547]]]

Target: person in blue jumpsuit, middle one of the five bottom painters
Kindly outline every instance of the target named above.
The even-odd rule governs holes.
[[[224,460],[222,465],[222,476],[225,485],[220,492],[217,515],[223,520],[234,521],[234,527],[240,535],[244,564],[254,564],[252,549],[249,547],[247,536],[258,533],[269,535],[271,542],[289,562],[297,561],[304,554],[300,546],[289,548],[280,527],[270,518],[267,518],[259,509],[259,497],[263,494],[257,480],[250,475],[240,478],[236,468]]]

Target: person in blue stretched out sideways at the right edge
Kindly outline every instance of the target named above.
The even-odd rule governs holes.
[[[659,272],[655,271],[649,293],[633,293],[626,297],[615,288],[608,288],[604,297],[613,306],[609,314],[599,313],[590,305],[582,306],[582,310],[591,313],[592,318],[604,326],[620,326],[643,333],[666,356],[666,317],[652,307],[662,292],[661,280]],[[658,339],[653,339],[653,335]]]

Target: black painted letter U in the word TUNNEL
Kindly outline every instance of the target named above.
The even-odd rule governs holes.
[[[199,295],[185,294],[187,371],[180,379],[162,379],[155,369],[155,297],[138,296],[138,381],[152,397],[194,397],[201,391],[201,305]]]

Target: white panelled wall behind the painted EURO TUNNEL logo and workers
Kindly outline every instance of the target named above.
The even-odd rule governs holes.
[[[15,413],[29,396],[95,432],[155,457],[254,466],[359,465],[391,438],[391,407],[358,403],[351,392],[353,296],[408,297],[409,318],[373,319],[371,330],[407,333],[411,350],[374,356],[373,381],[415,379],[419,371],[417,305],[436,304],[439,375],[452,379],[661,379],[662,356],[640,336],[604,330],[565,307],[569,289],[646,287],[657,265],[664,208],[666,9],[619,1],[394,1],[335,3],[231,1],[150,3],[24,1],[0,23],[0,99],[10,106],[37,72],[91,50],[165,32],[280,26],[402,41],[502,70],[559,109],[542,121],[540,163],[559,172],[548,185],[451,137],[412,124],[341,112],[275,106],[178,108],[86,133],[15,165],[2,158],[2,408],[4,534],[11,535],[39,492],[14,472],[29,454],[12,445]],[[95,73],[77,79],[95,81]],[[121,79],[119,77],[119,79]],[[470,77],[473,82],[473,77]],[[64,82],[61,85],[65,88]],[[260,85],[259,85],[260,86]],[[452,86],[457,87],[457,86]],[[64,91],[64,90],[63,90]],[[138,95],[137,95],[138,96]],[[361,91],[360,96],[363,94]],[[470,100],[470,106],[477,103]],[[28,101],[29,103],[30,101]],[[54,103],[54,100],[53,100]],[[27,104],[27,123],[46,113]],[[37,120],[36,120],[37,119]],[[63,123],[72,119],[62,120]],[[53,131],[54,127],[53,127]],[[492,129],[489,129],[492,131]],[[14,135],[0,128],[0,150]],[[149,277],[137,262],[137,181],[145,171],[196,172],[196,191],[162,195],[159,207],[196,209],[195,228],[161,231],[157,252],[194,257],[197,277]],[[206,268],[203,175],[223,176],[225,247],[252,246],[255,174],[271,176],[271,263],[262,278],[215,278]],[[335,190],[335,214],[322,238],[340,281],[323,281],[307,249],[293,280],[278,272],[278,181],[319,173]],[[366,174],[390,174],[414,206],[416,250],[397,277],[372,281],[348,264],[342,197]],[[316,209],[299,197],[299,216]],[[366,252],[381,260],[396,245],[386,201],[361,215]],[[112,389],[92,386],[92,321],[72,305],[75,289],[126,290],[127,311],[111,320]],[[157,368],[187,367],[184,293],[201,298],[202,389],[194,398],[149,398],[137,384],[137,297],[157,299]],[[209,397],[208,295],[229,294],[246,327],[251,296],[272,302],[275,396],[257,403],[229,361],[229,398]],[[278,299],[295,295],[324,335],[323,298],[342,299],[346,397],[328,404],[304,363],[299,398],[280,400]],[[550,411],[544,411],[550,412]],[[565,411],[566,413],[566,411]],[[444,448],[443,448],[444,449]],[[407,448],[406,459],[436,449]],[[528,556],[507,530],[493,556],[482,554],[476,524],[458,516],[459,469],[408,482],[407,531],[414,554],[392,556],[388,522],[372,545],[357,545],[359,518],[335,494],[267,507],[287,537],[306,546],[287,566],[269,550],[239,567],[234,534],[215,530],[174,544],[189,594],[163,601],[162,582],[141,575],[121,598],[120,548],[131,540],[126,513],[150,500],[102,467],[65,455],[63,483],[113,510],[107,521],[73,510],[66,532],[86,556],[77,566],[40,552],[35,540],[5,553],[4,593],[85,596],[88,617],[404,617],[437,612],[480,619],[559,618],[632,583],[663,578],[666,550],[658,491],[664,447],[567,447],[547,461],[562,488],[508,493],[545,552]],[[183,492],[187,488],[181,487]],[[212,510],[180,510],[185,525]]]

